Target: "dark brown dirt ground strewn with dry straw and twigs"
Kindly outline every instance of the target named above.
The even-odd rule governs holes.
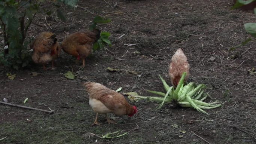
[[[1,100],[55,111],[49,114],[0,104],[0,139],[7,136],[1,144],[256,143],[256,79],[248,74],[256,66],[256,46],[251,42],[229,51],[250,37],[243,24],[255,22],[253,12],[230,10],[232,0],[80,0],[78,5],[66,9],[67,22],[60,22],[56,15],[38,15],[28,37],[52,31],[61,42],[67,33],[87,29],[100,15],[112,19],[98,26],[112,34],[112,47],[94,52],[86,59],[85,69],[64,52],[55,70],[44,71],[37,64],[20,71],[1,67]],[[137,114],[110,116],[118,123],[132,124],[109,125],[100,115],[102,125],[91,126],[95,113],[82,82],[98,82],[114,90],[122,87],[121,93],[143,96],[152,96],[148,89],[164,92],[159,75],[171,85],[168,64],[178,48],[191,67],[188,81],[207,85],[211,96],[207,101],[219,100],[222,107],[206,110],[207,116],[192,108],[165,105],[156,110],[156,103],[129,101],[138,107]],[[124,71],[110,72],[107,67]],[[73,71],[76,78],[66,79],[63,73],[67,71]],[[17,77],[9,80],[7,72]],[[31,76],[31,72],[39,74]],[[28,101],[23,104],[25,98]],[[88,135],[118,130],[129,133],[112,140]]]

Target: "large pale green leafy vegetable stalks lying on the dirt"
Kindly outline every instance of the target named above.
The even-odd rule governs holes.
[[[161,108],[164,104],[167,104],[169,102],[175,102],[181,107],[192,107],[198,110],[199,112],[202,112],[204,114],[207,114],[206,111],[202,109],[212,109],[220,107],[221,104],[218,104],[217,101],[206,103],[203,102],[208,94],[204,93],[204,89],[206,86],[204,84],[197,85],[194,82],[189,83],[188,85],[183,84],[184,79],[186,76],[186,72],[183,73],[179,84],[177,88],[174,90],[173,86],[168,86],[165,80],[160,76],[160,79],[164,85],[164,89],[167,91],[167,93],[163,92],[157,92],[157,91],[148,91],[153,94],[157,94],[159,96],[140,96],[135,92],[128,92],[127,94],[130,96],[131,99],[134,98],[140,98],[140,99],[148,99],[149,101],[156,101],[161,102],[161,104],[158,106],[158,108]]]

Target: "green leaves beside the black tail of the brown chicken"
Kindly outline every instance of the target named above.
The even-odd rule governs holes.
[[[97,24],[107,24],[111,22],[111,19],[102,18],[100,16],[96,16],[93,19],[93,24],[90,26],[89,30],[95,30],[97,28]],[[104,46],[109,45],[111,46],[111,42],[109,40],[110,33],[109,32],[101,32],[100,39],[93,45],[93,50],[103,49]]]

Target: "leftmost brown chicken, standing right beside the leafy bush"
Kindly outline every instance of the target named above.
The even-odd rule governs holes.
[[[52,61],[52,69],[54,69],[54,59],[61,52],[56,35],[50,32],[40,33],[30,44],[30,48],[33,49],[32,59],[35,63],[43,64],[43,69],[46,70],[45,64]]]

